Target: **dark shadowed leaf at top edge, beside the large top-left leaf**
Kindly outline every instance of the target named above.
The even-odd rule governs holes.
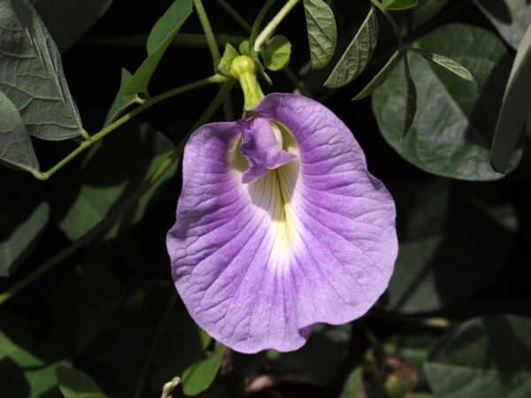
[[[109,9],[112,0],[32,0],[61,52],[68,50]]]

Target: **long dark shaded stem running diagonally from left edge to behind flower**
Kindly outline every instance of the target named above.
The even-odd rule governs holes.
[[[85,233],[83,236],[81,236],[79,240],[74,241],[70,246],[61,250],[55,256],[52,256],[48,261],[36,268],[35,271],[29,273],[26,278],[20,279],[19,282],[12,285],[12,287],[9,287],[3,294],[0,295],[0,304],[10,300],[14,295],[19,293],[19,291],[21,291],[31,283],[35,282],[35,280],[39,279],[44,273],[49,272],[52,268],[54,268],[58,264],[61,264],[66,258],[73,255],[73,253],[75,253],[78,249],[81,249],[81,247],[88,244],[89,241],[92,241],[94,238],[96,238],[96,236],[100,235],[101,233],[104,233],[104,231],[106,231],[109,226],[112,226],[112,224],[117,219],[119,219],[122,214],[130,210],[135,205],[135,203],[142,197],[142,195],[144,195],[147,191],[150,190],[151,187],[157,184],[158,181],[165,176],[165,173],[172,168],[173,164],[177,161],[177,159],[181,157],[182,151],[184,150],[184,146],[189,138],[189,135],[196,131],[197,126],[204,125],[204,123],[206,123],[208,119],[212,118],[212,115],[219,108],[221,103],[223,103],[233,86],[234,81],[228,80],[225,82],[225,84],[223,84],[223,86],[221,86],[221,88],[219,88],[218,94],[207,106],[207,108],[204,110],[203,114],[199,117],[199,119],[197,119],[196,124],[191,128],[189,134],[187,134],[187,136],[181,141],[177,148],[162,161],[162,163],[158,166],[157,170],[150,174],[150,176],[148,177],[146,182],[144,182],[142,187],[135,192],[135,195],[129,196],[127,200],[119,206],[118,209],[112,211],[111,216],[105,218],[102,222],[92,228],[88,233]]]

